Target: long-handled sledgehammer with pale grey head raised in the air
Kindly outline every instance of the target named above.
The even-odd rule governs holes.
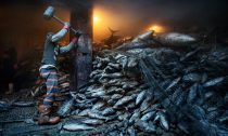
[[[55,21],[58,21],[59,23],[64,25],[64,22],[54,15],[54,8],[53,6],[48,6],[48,9],[46,9],[46,11],[43,13],[43,17],[46,19],[54,18]],[[72,27],[71,27],[71,30],[74,31],[75,33],[78,32],[78,30],[75,30]]]

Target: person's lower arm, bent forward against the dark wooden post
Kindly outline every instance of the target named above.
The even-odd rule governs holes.
[[[68,45],[61,46],[61,47],[59,49],[59,53],[60,53],[60,54],[66,53],[66,52],[69,52],[71,50],[73,50],[74,47],[76,47],[80,35],[81,35],[80,32],[75,33],[75,37],[74,37],[74,38],[72,39],[72,41],[68,43]]]

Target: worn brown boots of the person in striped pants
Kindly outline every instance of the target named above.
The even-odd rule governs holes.
[[[50,117],[50,113],[52,111],[51,106],[40,105],[38,110],[39,110],[39,118],[38,118],[39,125],[56,124],[60,122],[60,117]]]

